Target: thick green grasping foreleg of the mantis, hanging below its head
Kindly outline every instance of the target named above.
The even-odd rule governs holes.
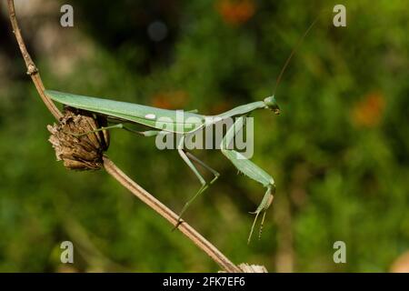
[[[230,144],[234,141],[234,135],[236,135],[239,131],[243,129],[244,123],[245,123],[244,116],[240,116],[236,119],[234,125],[232,125],[228,129],[226,135],[224,135],[220,148],[224,156],[226,156],[240,172],[242,172],[245,176],[249,176],[254,181],[257,181],[258,183],[262,184],[264,187],[267,188],[267,191],[264,194],[262,202],[252,213],[255,215],[255,217],[253,226],[250,231],[250,235],[248,236],[248,242],[250,242],[250,239],[253,235],[255,222],[257,221],[258,216],[262,212],[264,212],[265,216],[265,210],[271,205],[273,201],[275,186],[274,179],[272,176],[268,175],[262,168],[256,166],[245,156],[235,151],[234,149],[230,148]],[[260,234],[263,229],[264,216],[260,226]]]

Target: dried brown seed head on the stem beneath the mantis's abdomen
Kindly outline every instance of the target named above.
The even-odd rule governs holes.
[[[48,141],[55,149],[57,161],[71,170],[98,170],[109,146],[108,131],[92,132],[106,125],[101,116],[65,107],[65,115],[58,125],[47,125],[51,133]]]

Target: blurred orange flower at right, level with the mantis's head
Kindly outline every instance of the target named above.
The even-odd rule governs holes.
[[[359,127],[374,127],[381,121],[384,113],[384,95],[373,92],[364,96],[364,100],[354,105],[352,119]]]

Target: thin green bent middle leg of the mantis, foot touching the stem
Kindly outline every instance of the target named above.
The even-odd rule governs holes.
[[[186,209],[192,204],[192,202],[195,200],[195,198],[197,198],[197,196],[201,195],[202,193],[205,192],[205,190],[211,186],[212,184],[214,184],[215,180],[217,180],[217,178],[220,176],[220,174],[215,171],[212,167],[207,166],[204,162],[202,162],[200,159],[198,159],[197,157],[195,157],[194,155],[192,155],[191,153],[185,152],[185,150],[182,148],[182,145],[185,141],[185,137],[182,137],[179,146],[178,146],[178,152],[179,155],[182,157],[182,159],[185,161],[186,165],[190,167],[190,169],[195,173],[195,176],[197,176],[197,178],[200,181],[200,184],[202,184],[202,186],[200,187],[200,189],[196,192],[195,196],[193,196],[192,198],[190,198],[186,203],[185,206],[182,208],[182,211],[179,214],[179,218],[178,218],[178,222],[177,225],[175,226],[175,228],[177,226],[179,226],[182,223],[182,216],[185,213]],[[206,170],[208,170],[209,172],[211,172],[214,175],[214,178],[210,181],[210,182],[206,182],[205,178],[199,173],[199,171],[197,170],[197,168],[195,167],[195,165],[192,163],[191,159],[193,161],[195,161],[197,164],[199,164],[200,166],[205,167]]]

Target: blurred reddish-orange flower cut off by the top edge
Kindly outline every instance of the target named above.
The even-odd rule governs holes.
[[[229,25],[241,25],[255,12],[254,0],[218,0],[216,10]]]

